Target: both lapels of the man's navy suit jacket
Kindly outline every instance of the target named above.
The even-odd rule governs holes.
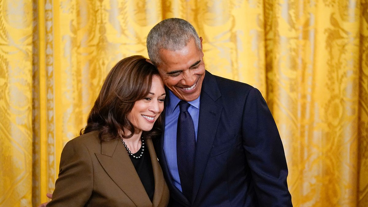
[[[222,111],[222,105],[216,103],[216,100],[221,97],[220,90],[217,86],[215,77],[206,71],[201,91],[201,101],[199,106],[199,120],[198,120],[198,134],[196,143],[196,157],[194,164],[194,186],[192,203],[197,196],[201,180],[203,178],[203,172],[207,165],[209,153],[212,148],[213,140],[215,138],[217,126],[219,124],[220,115]],[[164,117],[164,116],[163,116]],[[165,126],[163,119],[163,127]],[[184,196],[180,190],[174,186],[169,167],[167,166],[166,156],[164,153],[164,129],[160,140],[158,141],[158,153],[160,164],[164,172],[167,184],[170,187],[170,194],[173,194],[175,198],[181,201],[182,205],[190,206],[190,202]],[[197,156],[199,155],[199,156]]]

